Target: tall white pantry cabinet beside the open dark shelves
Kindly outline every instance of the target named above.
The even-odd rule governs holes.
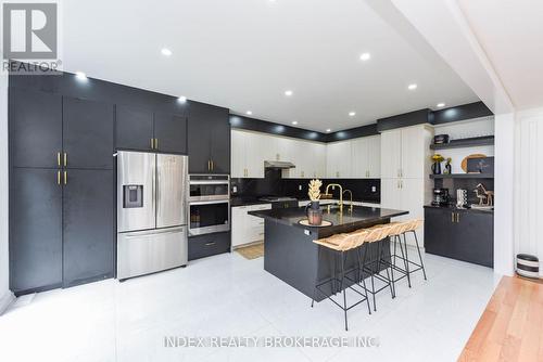
[[[432,138],[433,129],[427,125],[381,132],[381,206],[408,210],[401,219],[424,219],[424,206],[431,201]],[[424,245],[422,229],[417,233]]]

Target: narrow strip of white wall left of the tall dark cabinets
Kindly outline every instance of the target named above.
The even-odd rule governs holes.
[[[8,254],[8,76],[0,73],[0,314],[12,299]]]

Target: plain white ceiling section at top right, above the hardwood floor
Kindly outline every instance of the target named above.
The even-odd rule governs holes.
[[[516,108],[543,105],[543,1],[459,0]]]

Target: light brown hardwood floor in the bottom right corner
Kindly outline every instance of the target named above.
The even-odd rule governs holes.
[[[504,276],[458,361],[543,361],[543,284]]]

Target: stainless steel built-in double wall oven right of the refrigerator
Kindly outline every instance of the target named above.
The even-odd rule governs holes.
[[[189,235],[230,230],[230,177],[189,176]]]

